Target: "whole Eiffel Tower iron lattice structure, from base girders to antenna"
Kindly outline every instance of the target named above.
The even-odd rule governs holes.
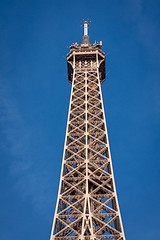
[[[50,240],[125,240],[104,114],[102,42],[70,46],[72,84],[59,192]]]

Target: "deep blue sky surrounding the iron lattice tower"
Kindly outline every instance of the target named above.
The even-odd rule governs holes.
[[[71,85],[66,54],[103,42],[102,85],[128,240],[160,239],[160,2],[5,0],[0,8],[0,239],[49,239]]]

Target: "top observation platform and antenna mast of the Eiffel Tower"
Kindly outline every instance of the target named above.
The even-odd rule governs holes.
[[[68,80],[72,83],[77,71],[98,71],[100,83],[105,81],[105,53],[102,52],[102,41],[89,43],[89,21],[83,21],[83,43],[73,43],[67,54]]]

